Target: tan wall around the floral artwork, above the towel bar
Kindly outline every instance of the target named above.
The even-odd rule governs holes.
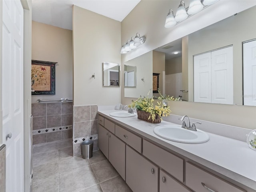
[[[32,60],[55,65],[55,95],[32,95],[37,99],[73,98],[72,31],[32,21]]]

